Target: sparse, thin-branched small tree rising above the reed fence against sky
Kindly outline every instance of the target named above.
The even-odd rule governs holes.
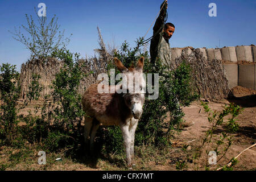
[[[32,15],[25,15],[27,19],[27,27],[22,24],[19,30],[15,28],[13,38],[18,40],[26,46],[31,52],[31,59],[43,59],[50,56],[57,48],[65,48],[70,42],[69,38],[64,38],[64,31],[59,31],[60,25],[57,23],[56,15],[51,21],[47,23],[46,16],[37,16],[37,23],[35,23]],[[23,28],[28,35],[22,33],[20,29]],[[71,34],[72,35],[72,34]]]

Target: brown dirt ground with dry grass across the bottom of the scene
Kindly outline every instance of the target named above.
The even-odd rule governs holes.
[[[234,156],[237,156],[247,147],[256,143],[256,95],[255,90],[241,88],[240,86],[233,89],[234,98],[222,101],[208,101],[208,105],[212,110],[221,111],[225,104],[234,102],[234,104],[241,105],[243,111],[237,117],[237,122],[240,127],[237,134],[234,134],[233,144],[229,148],[226,156],[216,164],[212,165],[211,169],[222,167],[229,162]],[[201,100],[205,101],[205,98]],[[31,107],[32,108],[32,107]],[[167,151],[158,151],[154,154],[154,149],[142,154],[141,148],[135,148],[135,160],[137,161],[137,170],[176,170],[177,162],[185,162],[185,170],[195,170],[195,166],[191,162],[192,156],[196,148],[200,146],[205,132],[210,128],[207,113],[205,113],[200,101],[195,101],[189,107],[184,107],[185,121],[193,122],[194,125],[186,127],[179,134],[174,134],[172,138],[172,147]],[[26,114],[26,110],[21,111]],[[217,135],[221,134],[217,133]],[[8,161],[7,156],[15,153],[10,151],[12,149],[7,147],[0,148],[0,164]],[[63,158],[62,162],[54,162],[54,159],[59,155],[51,155],[52,163],[48,166],[40,166],[37,164],[38,151],[32,151],[30,154],[31,162],[26,164],[16,164],[13,167],[6,168],[6,170],[123,170],[125,169],[125,159],[118,158],[114,154],[108,160],[97,160],[97,164],[73,162],[71,159]],[[238,157],[238,163],[233,167],[233,170],[256,170],[256,147],[246,150]],[[26,167],[24,167],[26,166]],[[108,166],[108,167],[106,167]],[[113,166],[113,167],[110,167]],[[201,165],[202,167],[203,165]],[[203,167],[201,168],[202,170]]]

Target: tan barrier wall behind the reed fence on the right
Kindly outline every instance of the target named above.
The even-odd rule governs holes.
[[[172,61],[177,57],[190,55],[193,47],[172,48]],[[235,86],[243,86],[245,88],[256,89],[256,46],[236,46],[222,48],[197,48],[205,59],[211,61],[213,59],[229,61],[232,64],[224,63],[226,76],[229,80],[229,88]],[[251,65],[238,64],[240,61],[250,62]]]

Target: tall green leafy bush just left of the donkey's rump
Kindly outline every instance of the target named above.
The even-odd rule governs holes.
[[[78,62],[79,54],[74,55],[68,50],[59,49],[53,52],[52,56],[63,60],[64,65],[52,82],[53,100],[47,102],[47,97],[45,98],[42,119],[49,129],[44,144],[49,150],[56,150],[81,143],[81,122],[85,113],[77,88],[85,75]],[[54,138],[55,142],[51,142]]]

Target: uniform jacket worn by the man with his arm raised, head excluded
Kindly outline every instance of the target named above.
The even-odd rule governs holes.
[[[162,4],[163,5],[163,4]],[[162,5],[160,7],[162,7]],[[164,5],[156,19],[153,28],[153,38],[150,43],[151,63],[154,64],[156,59],[160,59],[163,64],[167,65],[168,69],[173,69],[174,63],[171,61],[171,48],[169,41],[163,37],[164,19],[166,18],[167,5]]]

